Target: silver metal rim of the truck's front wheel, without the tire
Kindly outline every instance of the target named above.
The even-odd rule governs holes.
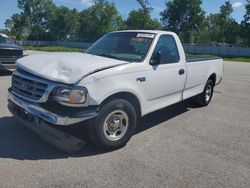
[[[128,115],[122,110],[111,112],[104,121],[104,136],[110,141],[120,140],[128,130]]]

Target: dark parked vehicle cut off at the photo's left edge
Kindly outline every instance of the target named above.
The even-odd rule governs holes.
[[[23,48],[7,35],[0,33],[0,69],[14,69],[17,59],[23,57]]]

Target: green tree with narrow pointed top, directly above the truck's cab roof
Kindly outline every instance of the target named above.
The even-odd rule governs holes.
[[[152,19],[150,14],[152,7],[147,0],[137,0],[141,6],[138,10],[132,10],[126,20],[127,29],[161,29],[161,24]]]

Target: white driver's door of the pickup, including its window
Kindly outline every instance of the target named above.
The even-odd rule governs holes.
[[[147,100],[168,106],[182,100],[186,65],[185,62],[180,61],[176,41],[172,35],[160,36],[151,60],[157,55],[160,55],[159,62],[156,65],[150,65],[147,76],[149,87]]]

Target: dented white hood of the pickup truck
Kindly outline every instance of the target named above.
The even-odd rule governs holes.
[[[85,53],[48,52],[21,58],[16,65],[51,81],[75,84],[91,73],[126,63],[128,62]]]

